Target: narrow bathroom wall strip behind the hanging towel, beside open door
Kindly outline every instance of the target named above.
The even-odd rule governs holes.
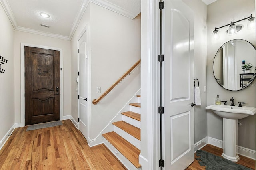
[[[194,78],[199,81],[202,106],[194,107],[195,143],[207,136],[207,95],[206,86],[206,55],[207,55],[207,6],[201,0],[184,1],[194,11]],[[198,83],[196,81],[195,85]]]

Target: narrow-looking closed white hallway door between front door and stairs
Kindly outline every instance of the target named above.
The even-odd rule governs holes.
[[[87,30],[78,39],[78,112],[79,130],[88,139],[88,114],[87,114]]]

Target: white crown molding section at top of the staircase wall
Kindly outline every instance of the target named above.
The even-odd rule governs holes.
[[[126,16],[130,19],[134,19],[138,14],[132,13],[124,8],[121,8],[115,4],[112,4],[111,2],[108,2],[106,0],[90,0],[90,2],[97,4],[99,6],[102,6],[108,10],[111,10],[113,12],[116,12],[118,14],[121,14],[123,16]]]

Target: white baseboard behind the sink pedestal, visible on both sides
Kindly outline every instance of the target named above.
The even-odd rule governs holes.
[[[208,137],[208,143],[218,148],[223,148],[223,141],[212,137]],[[255,150],[244,148],[242,146],[236,146],[239,155],[255,160]]]

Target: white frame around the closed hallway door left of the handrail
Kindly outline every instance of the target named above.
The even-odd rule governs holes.
[[[90,113],[91,113],[91,103],[92,103],[92,100],[91,100],[91,92],[90,92],[90,88],[91,88],[91,85],[90,83],[88,83],[89,81],[91,82],[91,69],[90,69],[90,50],[89,50],[89,47],[90,47],[90,43],[89,43],[89,30],[88,30],[88,24],[84,27],[84,29],[82,30],[82,32],[80,33],[80,35],[78,36],[77,38],[77,48],[79,49],[79,42],[78,40],[80,40],[80,38],[82,38],[83,34],[86,32],[87,34],[87,76],[86,76],[86,91],[87,91],[87,119],[86,119],[86,124],[87,124],[87,141],[89,141],[89,124],[90,124]],[[77,53],[77,72],[80,71],[80,63],[79,63],[79,53]],[[77,86],[78,86],[78,91],[77,91],[77,95],[79,95],[79,82],[80,79],[79,77],[77,78]],[[79,99],[77,99],[77,117],[80,118],[80,106],[79,106]],[[80,123],[78,122],[78,129],[80,129]]]

